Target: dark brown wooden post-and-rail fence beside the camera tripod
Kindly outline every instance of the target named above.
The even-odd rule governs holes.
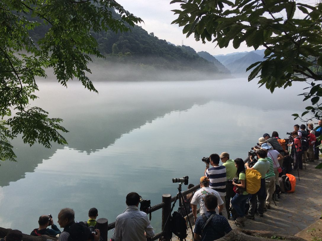
[[[196,190],[198,190],[200,188],[200,185],[196,185],[186,191],[181,192],[183,196],[191,193],[191,192],[195,192]],[[177,195],[175,197],[171,197],[171,194],[163,194],[162,195],[162,202],[159,204],[154,205],[153,207],[151,207],[150,212],[152,213],[156,210],[162,209],[162,224],[161,224],[161,229],[163,230],[163,234],[162,236],[165,238],[165,241],[170,241],[171,237],[172,237],[172,232],[171,232],[171,227],[170,227],[170,221],[166,222],[169,215],[171,215],[170,211],[171,211],[171,203],[173,203],[175,200],[177,200]],[[197,210],[197,212],[199,212],[199,209]],[[148,214],[149,214],[148,213]],[[190,213],[188,215],[188,218],[191,219],[191,217],[193,217],[193,213]],[[166,227],[165,227],[166,225]],[[111,230],[112,228],[115,228],[115,222],[110,223],[108,225],[108,230]],[[154,237],[151,238],[151,240],[157,240],[158,238],[161,237],[161,232],[157,233]]]

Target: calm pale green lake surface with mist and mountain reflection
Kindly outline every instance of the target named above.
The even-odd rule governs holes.
[[[291,114],[309,105],[297,96],[305,86],[270,94],[247,78],[94,85],[99,94],[77,82],[67,89],[40,83],[33,105],[64,120],[68,145],[45,149],[12,142],[18,162],[0,166],[0,227],[29,234],[40,215],[52,214],[57,224],[65,207],[75,210],[78,221],[96,207],[98,218],[114,222],[126,208],[127,193],[156,205],[163,193],[176,195],[172,178],[188,175],[189,183],[199,183],[203,156],[245,158],[264,133],[287,137],[301,124]],[[151,223],[161,231],[161,210],[152,213]]]

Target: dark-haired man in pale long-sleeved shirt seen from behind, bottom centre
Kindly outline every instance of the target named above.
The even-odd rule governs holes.
[[[130,192],[126,196],[128,207],[116,217],[112,241],[146,241],[154,236],[154,230],[145,212],[139,211],[140,196]]]

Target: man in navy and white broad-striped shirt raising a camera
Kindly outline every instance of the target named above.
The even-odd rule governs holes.
[[[223,216],[227,217],[227,210],[225,208],[225,196],[226,196],[226,167],[219,165],[220,157],[218,154],[211,154],[209,156],[210,165],[212,168],[209,168],[209,163],[206,163],[205,176],[209,178],[209,187],[217,191],[223,200]]]

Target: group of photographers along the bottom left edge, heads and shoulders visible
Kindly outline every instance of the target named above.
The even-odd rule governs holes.
[[[154,236],[147,213],[138,209],[139,204],[145,208],[150,206],[149,200],[143,200],[136,192],[130,192],[126,196],[127,208],[118,215],[115,222],[114,234],[111,241],[145,241]],[[143,204],[143,205],[142,205]],[[54,224],[52,215],[42,215],[39,217],[39,227],[33,229],[30,235],[41,236],[50,235],[58,237],[58,241],[99,241],[99,229],[96,228],[98,210],[91,208],[88,212],[89,219],[85,222],[75,222],[75,212],[71,208],[63,208],[57,217],[57,223],[61,231]],[[50,228],[48,228],[50,227]],[[0,241],[22,241],[23,234],[19,230],[11,230],[6,237]],[[49,240],[49,239],[47,239]]]

